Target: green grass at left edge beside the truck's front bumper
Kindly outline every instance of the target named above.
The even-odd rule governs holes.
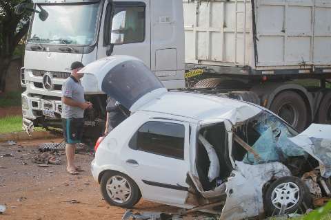
[[[0,118],[0,133],[12,133],[23,131],[22,116],[14,115]],[[35,128],[34,131],[45,131],[41,128]]]

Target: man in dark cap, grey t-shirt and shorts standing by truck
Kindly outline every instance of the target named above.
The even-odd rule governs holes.
[[[81,62],[72,63],[71,75],[62,86],[62,126],[66,140],[67,171],[77,175],[77,166],[74,166],[74,152],[77,143],[81,142],[84,126],[84,110],[92,108],[91,102],[86,102],[81,78],[84,74],[78,73],[84,65]]]

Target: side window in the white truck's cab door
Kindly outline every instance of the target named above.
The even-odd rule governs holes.
[[[146,5],[139,2],[114,2],[106,12],[104,45],[145,41]]]

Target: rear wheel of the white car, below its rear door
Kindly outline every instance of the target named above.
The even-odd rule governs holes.
[[[127,175],[107,171],[100,181],[101,194],[112,206],[132,208],[141,198],[137,184]]]

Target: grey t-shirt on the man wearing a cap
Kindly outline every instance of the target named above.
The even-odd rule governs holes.
[[[84,88],[81,82],[70,76],[62,85],[62,97],[72,98],[77,102],[85,102]],[[62,118],[84,118],[84,110],[79,107],[72,107],[62,102]]]

